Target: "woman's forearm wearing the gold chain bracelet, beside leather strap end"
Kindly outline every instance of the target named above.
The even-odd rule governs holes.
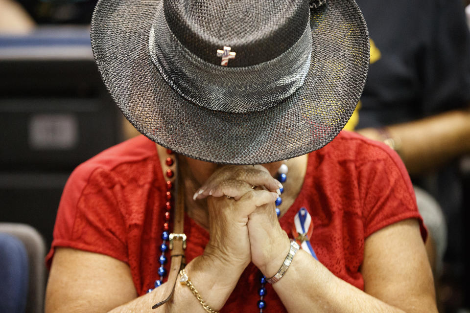
[[[204,302],[216,311],[224,306],[234,290],[243,269],[241,267],[235,268],[224,265],[222,262],[206,256],[199,256],[186,266],[190,281]],[[110,313],[206,312],[188,286],[179,282],[179,276],[171,300],[158,309],[152,310],[152,306],[155,303],[162,301],[166,288],[171,287],[165,283],[154,291],[115,308]]]

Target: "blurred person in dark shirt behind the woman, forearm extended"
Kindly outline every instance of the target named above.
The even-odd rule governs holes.
[[[463,190],[455,160],[470,153],[470,35],[463,2],[357,2],[369,27],[371,65],[347,129],[399,153],[415,185],[442,207],[447,255],[459,262]],[[446,222],[420,188],[417,201],[430,230],[428,256],[439,273]]]

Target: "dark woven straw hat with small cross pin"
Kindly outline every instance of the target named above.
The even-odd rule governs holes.
[[[356,3],[315,2],[100,0],[94,57],[120,110],[160,145],[216,163],[287,159],[340,132],[369,65]]]

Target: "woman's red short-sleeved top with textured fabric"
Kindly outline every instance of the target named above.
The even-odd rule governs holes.
[[[144,136],[111,147],[81,164],[65,186],[47,265],[57,246],[102,253],[129,265],[140,295],[154,288],[159,278],[165,192],[155,143]],[[312,217],[310,243],[319,261],[362,290],[359,267],[365,238],[409,218],[419,219],[422,236],[426,236],[399,156],[385,145],[354,133],[343,131],[327,146],[309,154],[301,192],[279,220],[287,233],[301,207]],[[190,262],[202,254],[209,234],[188,216],[185,233]],[[259,278],[259,270],[250,264],[221,312],[259,312]],[[285,312],[270,284],[266,289],[267,309]]]

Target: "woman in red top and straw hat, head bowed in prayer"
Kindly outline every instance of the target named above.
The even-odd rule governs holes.
[[[321,2],[97,4],[103,80],[160,145],[140,136],[72,174],[47,312],[436,312],[399,157],[338,135],[365,23]]]

